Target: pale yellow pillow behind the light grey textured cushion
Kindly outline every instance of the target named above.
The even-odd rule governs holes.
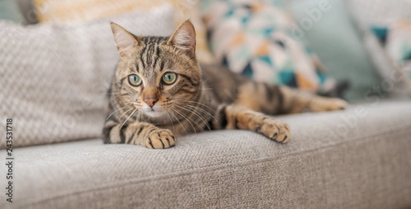
[[[164,4],[173,5],[171,20],[174,27],[190,19],[197,34],[197,58],[200,62],[212,62],[206,42],[206,30],[201,21],[199,1],[180,0],[35,0],[40,23],[73,23],[125,14],[135,10],[144,11]]]

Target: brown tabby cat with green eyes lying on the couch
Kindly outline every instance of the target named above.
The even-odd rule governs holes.
[[[269,115],[343,110],[347,102],[286,86],[254,82],[223,66],[197,62],[187,20],[169,37],[135,36],[111,23],[120,60],[108,90],[105,143],[173,147],[176,136],[204,130],[250,130],[278,143],[290,139]]]

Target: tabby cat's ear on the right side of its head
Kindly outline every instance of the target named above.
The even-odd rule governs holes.
[[[170,36],[168,45],[183,51],[190,57],[195,56],[195,29],[189,20],[179,25]]]

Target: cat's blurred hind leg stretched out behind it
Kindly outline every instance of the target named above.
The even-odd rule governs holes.
[[[258,82],[240,86],[235,103],[266,114],[290,114],[304,110],[325,112],[343,110],[348,105],[343,99],[321,97],[287,86]]]

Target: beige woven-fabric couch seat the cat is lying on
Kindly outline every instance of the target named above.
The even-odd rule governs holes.
[[[18,148],[14,203],[0,208],[411,206],[410,101],[281,118],[286,145],[236,130],[165,150],[101,140]]]

